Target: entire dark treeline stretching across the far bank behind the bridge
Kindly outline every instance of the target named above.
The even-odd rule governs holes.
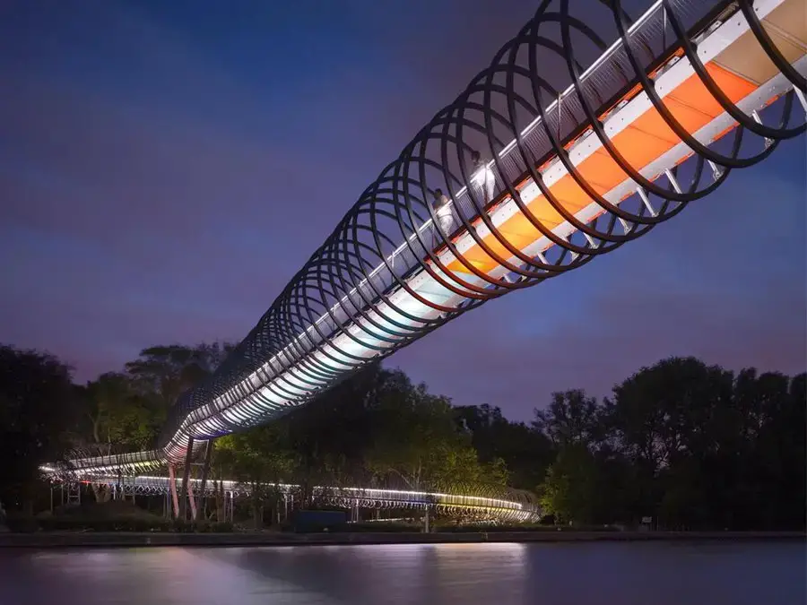
[[[39,464],[65,452],[152,447],[178,394],[228,350],[152,347],[119,373],[74,385],[58,359],[0,347],[0,501],[34,508]],[[535,402],[525,423],[496,405],[452,405],[374,364],[280,420],[217,440],[212,477],[506,484],[533,491],[556,523],[636,526],[649,517],[660,529],[802,529],[805,385],[804,374],[664,359],[603,400],[570,390]],[[263,495],[255,497],[257,511]]]

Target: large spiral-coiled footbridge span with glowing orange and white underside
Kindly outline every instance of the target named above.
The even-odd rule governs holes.
[[[170,413],[180,462],[491,298],[586,264],[804,131],[807,0],[545,0]],[[580,13],[574,13],[574,10]],[[617,39],[598,38],[611,23]],[[487,163],[473,165],[472,152]],[[437,189],[450,201],[439,224]],[[768,208],[761,212],[770,212]]]

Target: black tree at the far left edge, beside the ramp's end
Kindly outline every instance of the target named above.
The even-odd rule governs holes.
[[[30,507],[39,465],[67,448],[77,415],[70,368],[36,350],[0,346],[0,499]]]

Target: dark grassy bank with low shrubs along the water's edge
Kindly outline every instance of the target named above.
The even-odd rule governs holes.
[[[315,514],[316,511],[313,511]],[[332,522],[288,518],[264,529],[250,523],[182,521],[143,511],[131,502],[65,506],[35,516],[12,515],[0,525],[3,548],[138,548],[147,546],[295,546],[349,544],[475,544],[647,540],[805,540],[804,531],[731,531],[649,525],[467,523],[436,517]]]

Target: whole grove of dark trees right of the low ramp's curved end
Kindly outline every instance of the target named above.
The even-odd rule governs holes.
[[[582,404],[559,393],[536,426],[557,457],[545,506],[573,523],[803,528],[805,375],[665,359]]]

